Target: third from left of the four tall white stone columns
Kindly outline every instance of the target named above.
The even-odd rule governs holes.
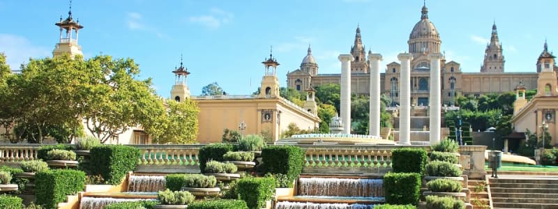
[[[397,58],[401,62],[399,144],[411,144],[411,59],[413,56],[409,53],[401,53]]]

